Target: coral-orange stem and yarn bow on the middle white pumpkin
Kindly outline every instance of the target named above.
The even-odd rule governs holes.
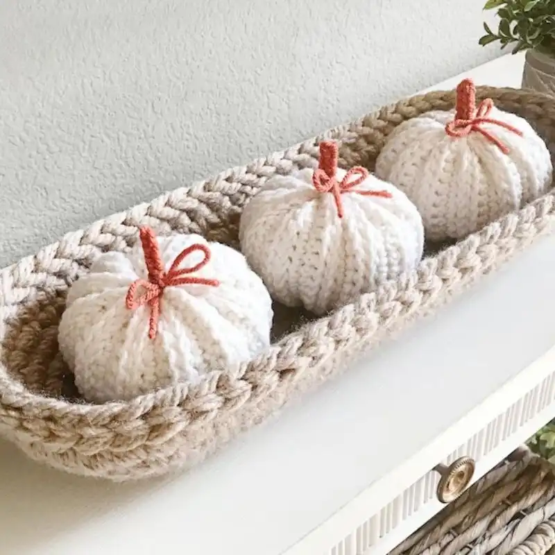
[[[339,148],[336,143],[324,141],[320,143],[320,164],[312,176],[312,185],[320,193],[332,193],[337,207],[337,215],[343,218],[343,193],[357,193],[365,196],[381,196],[391,198],[388,191],[357,191],[355,187],[360,185],[368,177],[368,170],[361,166],[351,168],[345,177],[338,182],[335,178],[337,172],[337,160]],[[355,176],[358,176],[355,178]],[[355,178],[352,180],[352,178]]]

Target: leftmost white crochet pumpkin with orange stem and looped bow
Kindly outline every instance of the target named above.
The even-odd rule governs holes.
[[[157,241],[142,228],[140,238],[68,291],[60,350],[89,401],[195,383],[270,342],[271,298],[241,253],[194,234]]]

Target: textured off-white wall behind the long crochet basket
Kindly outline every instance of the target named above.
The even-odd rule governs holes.
[[[0,266],[497,56],[484,0],[0,0]]]

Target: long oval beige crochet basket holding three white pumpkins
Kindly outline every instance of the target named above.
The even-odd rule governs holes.
[[[478,87],[477,96],[527,119],[553,155],[555,99],[489,87]],[[551,190],[456,244],[428,245],[416,271],[322,318],[275,306],[273,344],[238,368],[214,368],[194,386],[183,383],[130,402],[87,404],[78,398],[58,352],[58,323],[68,285],[100,253],[131,248],[140,225],[160,235],[203,234],[237,248],[249,198],[277,173],[316,167],[321,140],[339,142],[342,167],[373,170],[395,126],[430,110],[451,110],[454,101],[454,92],[434,92],[382,108],[67,234],[1,271],[0,434],[33,459],[80,475],[124,480],[190,467],[527,246],[553,219]]]

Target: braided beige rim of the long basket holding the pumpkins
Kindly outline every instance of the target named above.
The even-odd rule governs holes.
[[[505,99],[506,103],[522,105],[540,117],[550,110],[555,121],[555,98],[544,93],[511,87],[478,86],[477,97],[492,97],[494,101]],[[409,117],[405,119],[409,119],[411,112],[418,111],[423,104],[452,107],[454,91],[428,92],[391,103],[350,124],[332,128],[284,151],[258,158],[245,166],[232,167],[214,178],[193,182],[188,187],[165,192],[150,203],[140,203],[126,211],[99,219],[87,228],[65,234],[59,241],[42,247],[35,255],[28,255],[0,270],[0,311],[3,309],[6,313],[0,325],[10,317],[10,308],[13,311],[14,307],[24,305],[33,293],[35,296],[40,295],[36,290],[41,285],[46,291],[51,291],[56,286],[62,287],[65,284],[62,278],[49,273],[49,264],[53,260],[69,259],[71,262],[79,262],[98,253],[99,248],[114,246],[114,241],[119,241],[119,244],[121,241],[132,241],[137,237],[139,225],[156,220],[157,212],[162,209],[173,209],[179,199],[203,191],[221,191],[223,185],[240,180],[246,173],[255,173],[262,180],[278,171],[278,167],[289,173],[293,164],[314,166],[317,147],[321,141],[332,139],[339,142],[340,146],[348,145],[352,141],[361,140],[364,135],[361,130],[373,125],[386,125],[388,121],[395,120],[398,114],[408,113]],[[84,418],[95,426],[103,427],[114,418],[123,421],[142,418],[161,405],[176,407],[182,413],[189,413],[189,422],[192,422],[197,421],[199,415],[205,415],[205,420],[211,420],[215,411],[233,411],[248,400],[257,403],[271,393],[280,380],[293,384],[297,374],[316,368],[334,352],[348,349],[357,341],[364,343],[366,349],[370,350],[381,341],[384,333],[395,326],[400,327],[404,320],[418,311],[423,300],[433,305],[440,293],[473,282],[477,275],[495,266],[501,259],[518,250],[524,242],[529,242],[529,239],[540,234],[547,220],[555,213],[554,199],[555,191],[550,189],[547,194],[517,212],[489,223],[433,257],[422,259],[416,271],[410,275],[383,284],[354,302],[339,307],[316,321],[305,323],[299,330],[287,334],[257,357],[237,365],[236,368],[212,370],[203,375],[200,383],[194,386],[179,383],[140,395],[128,402],[72,402],[30,391],[22,382],[10,377],[6,368],[3,368],[3,363],[0,363],[0,429],[17,427],[18,419],[48,421],[49,427],[56,422],[58,427],[74,429],[79,425],[79,418]],[[156,221],[162,222],[160,226],[164,234],[164,230],[167,230],[164,228],[164,221]],[[94,244],[89,242],[90,237],[96,237]],[[456,275],[448,275],[450,270]],[[409,298],[411,295],[413,299]],[[391,314],[388,315],[388,312]],[[370,315],[375,316],[370,318],[372,322],[368,321]],[[378,319],[381,326],[379,334]],[[345,334],[341,331],[345,325],[354,330],[354,339],[345,339]],[[314,337],[321,339],[318,352],[314,352]],[[282,404],[285,402],[287,399]],[[2,422],[2,411],[9,414],[7,424]],[[68,416],[78,417],[78,420],[67,418]],[[24,432],[24,436],[28,438],[30,433]]]

